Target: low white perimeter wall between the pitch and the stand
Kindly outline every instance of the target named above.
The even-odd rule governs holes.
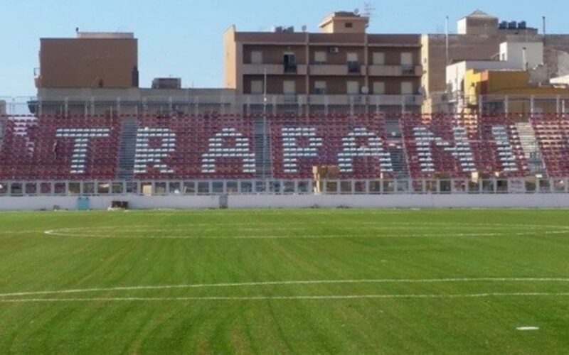
[[[90,209],[107,209],[111,201],[131,209],[218,208],[218,196],[90,197]],[[0,197],[0,210],[77,209],[77,197]],[[229,208],[569,208],[567,194],[510,195],[230,195]]]

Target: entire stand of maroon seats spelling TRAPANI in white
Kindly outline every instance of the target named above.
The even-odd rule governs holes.
[[[250,179],[265,165],[283,179],[311,178],[315,165],[336,165],[339,178],[354,179],[529,172],[519,121],[509,116],[268,116],[260,126],[258,117],[241,115],[149,115],[137,117],[132,150],[123,150],[126,119],[4,118],[0,178],[117,179],[122,151],[130,152],[137,180]],[[531,123],[547,175],[568,177],[568,117],[522,119]]]

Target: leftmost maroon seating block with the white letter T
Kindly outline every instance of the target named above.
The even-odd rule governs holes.
[[[117,117],[9,119],[0,151],[0,177],[113,179],[117,170],[119,131]]]

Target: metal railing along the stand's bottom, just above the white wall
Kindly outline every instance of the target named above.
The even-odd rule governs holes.
[[[0,197],[567,194],[569,178],[1,181]]]

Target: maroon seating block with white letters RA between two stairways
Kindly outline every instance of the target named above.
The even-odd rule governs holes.
[[[250,119],[145,116],[137,136],[137,179],[255,177]]]

